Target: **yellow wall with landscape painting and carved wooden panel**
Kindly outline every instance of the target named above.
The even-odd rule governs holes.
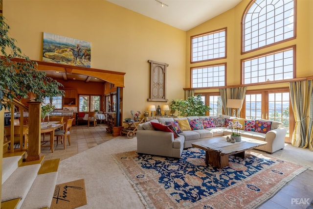
[[[148,110],[150,63],[165,62],[167,99],[184,97],[186,32],[105,0],[3,0],[10,34],[42,61],[43,32],[91,42],[91,67],[125,74],[123,116]]]

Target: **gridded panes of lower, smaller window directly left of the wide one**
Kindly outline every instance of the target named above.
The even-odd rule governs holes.
[[[225,86],[225,65],[192,68],[192,88]]]

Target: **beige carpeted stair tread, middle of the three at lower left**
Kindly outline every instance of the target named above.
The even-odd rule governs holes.
[[[30,187],[37,177],[40,164],[18,167],[2,184],[1,202],[21,198],[20,208]]]

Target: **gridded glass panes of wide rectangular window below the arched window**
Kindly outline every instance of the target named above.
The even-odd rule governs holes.
[[[243,61],[244,84],[293,78],[293,48]]]

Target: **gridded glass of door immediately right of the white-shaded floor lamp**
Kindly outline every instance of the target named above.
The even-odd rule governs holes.
[[[262,118],[262,94],[246,94],[246,118]]]

